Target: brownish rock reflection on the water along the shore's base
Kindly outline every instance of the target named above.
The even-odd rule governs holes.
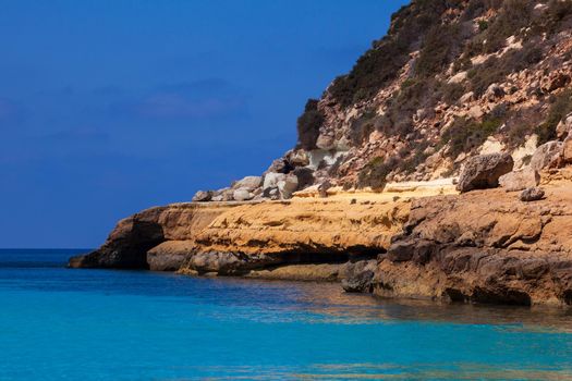
[[[253,287],[260,293],[283,292],[283,308],[304,310],[339,323],[375,321],[434,321],[463,324],[499,324],[507,329],[572,332],[570,307],[520,307],[446,304],[430,300],[387,299],[348,294],[338,283],[281,282],[219,278],[212,282]],[[260,299],[263,303],[266,300]],[[284,300],[282,300],[284,302]]]

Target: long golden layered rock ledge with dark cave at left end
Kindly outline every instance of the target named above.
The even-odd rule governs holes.
[[[245,275],[283,265],[342,263],[385,251],[407,212],[406,201],[177,204],[121,221],[106,244],[70,267]]]

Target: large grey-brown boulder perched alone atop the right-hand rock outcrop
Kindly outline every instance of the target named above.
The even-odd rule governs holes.
[[[509,153],[479,155],[467,159],[457,189],[461,193],[473,189],[495,188],[499,177],[512,171],[514,161]]]

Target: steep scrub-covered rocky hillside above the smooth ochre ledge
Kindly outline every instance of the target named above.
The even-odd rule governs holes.
[[[520,169],[568,134],[571,59],[570,0],[413,0],[349,74],[307,101],[296,147],[264,179],[195,200],[454,177],[466,158],[498,151]]]

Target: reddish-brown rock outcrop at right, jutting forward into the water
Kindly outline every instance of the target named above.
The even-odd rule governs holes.
[[[571,304],[572,192],[523,204],[502,189],[414,200],[380,260],[382,296],[502,304]]]

